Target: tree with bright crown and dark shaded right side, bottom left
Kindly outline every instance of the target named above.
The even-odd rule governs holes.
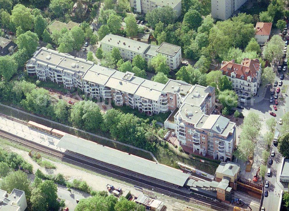
[[[52,180],[44,180],[43,182],[41,182],[38,185],[37,189],[38,190],[35,191],[35,193],[41,193],[42,194],[43,198],[45,199],[45,201],[48,204],[48,210],[58,210],[59,209],[60,204],[57,201],[57,198],[58,198],[57,197],[57,185],[54,184],[54,182]],[[26,192],[25,192],[25,194],[26,194]],[[43,205],[46,204],[46,203],[44,203],[44,200],[41,201],[41,203]]]

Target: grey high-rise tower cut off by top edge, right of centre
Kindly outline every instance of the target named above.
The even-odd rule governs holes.
[[[211,0],[212,17],[226,20],[231,17],[247,0]]]

